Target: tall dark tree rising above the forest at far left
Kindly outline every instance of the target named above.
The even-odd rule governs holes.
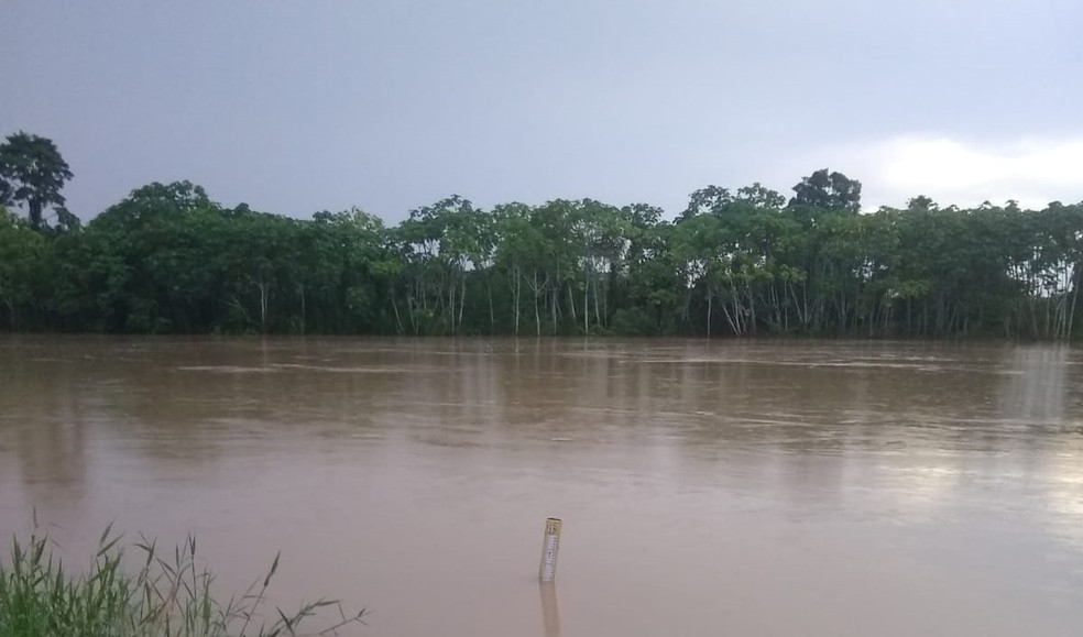
[[[48,228],[44,212],[51,207],[58,227],[78,223],[61,195],[70,178],[72,171],[52,140],[18,132],[0,144],[0,205],[25,206],[31,226],[39,230]]]

